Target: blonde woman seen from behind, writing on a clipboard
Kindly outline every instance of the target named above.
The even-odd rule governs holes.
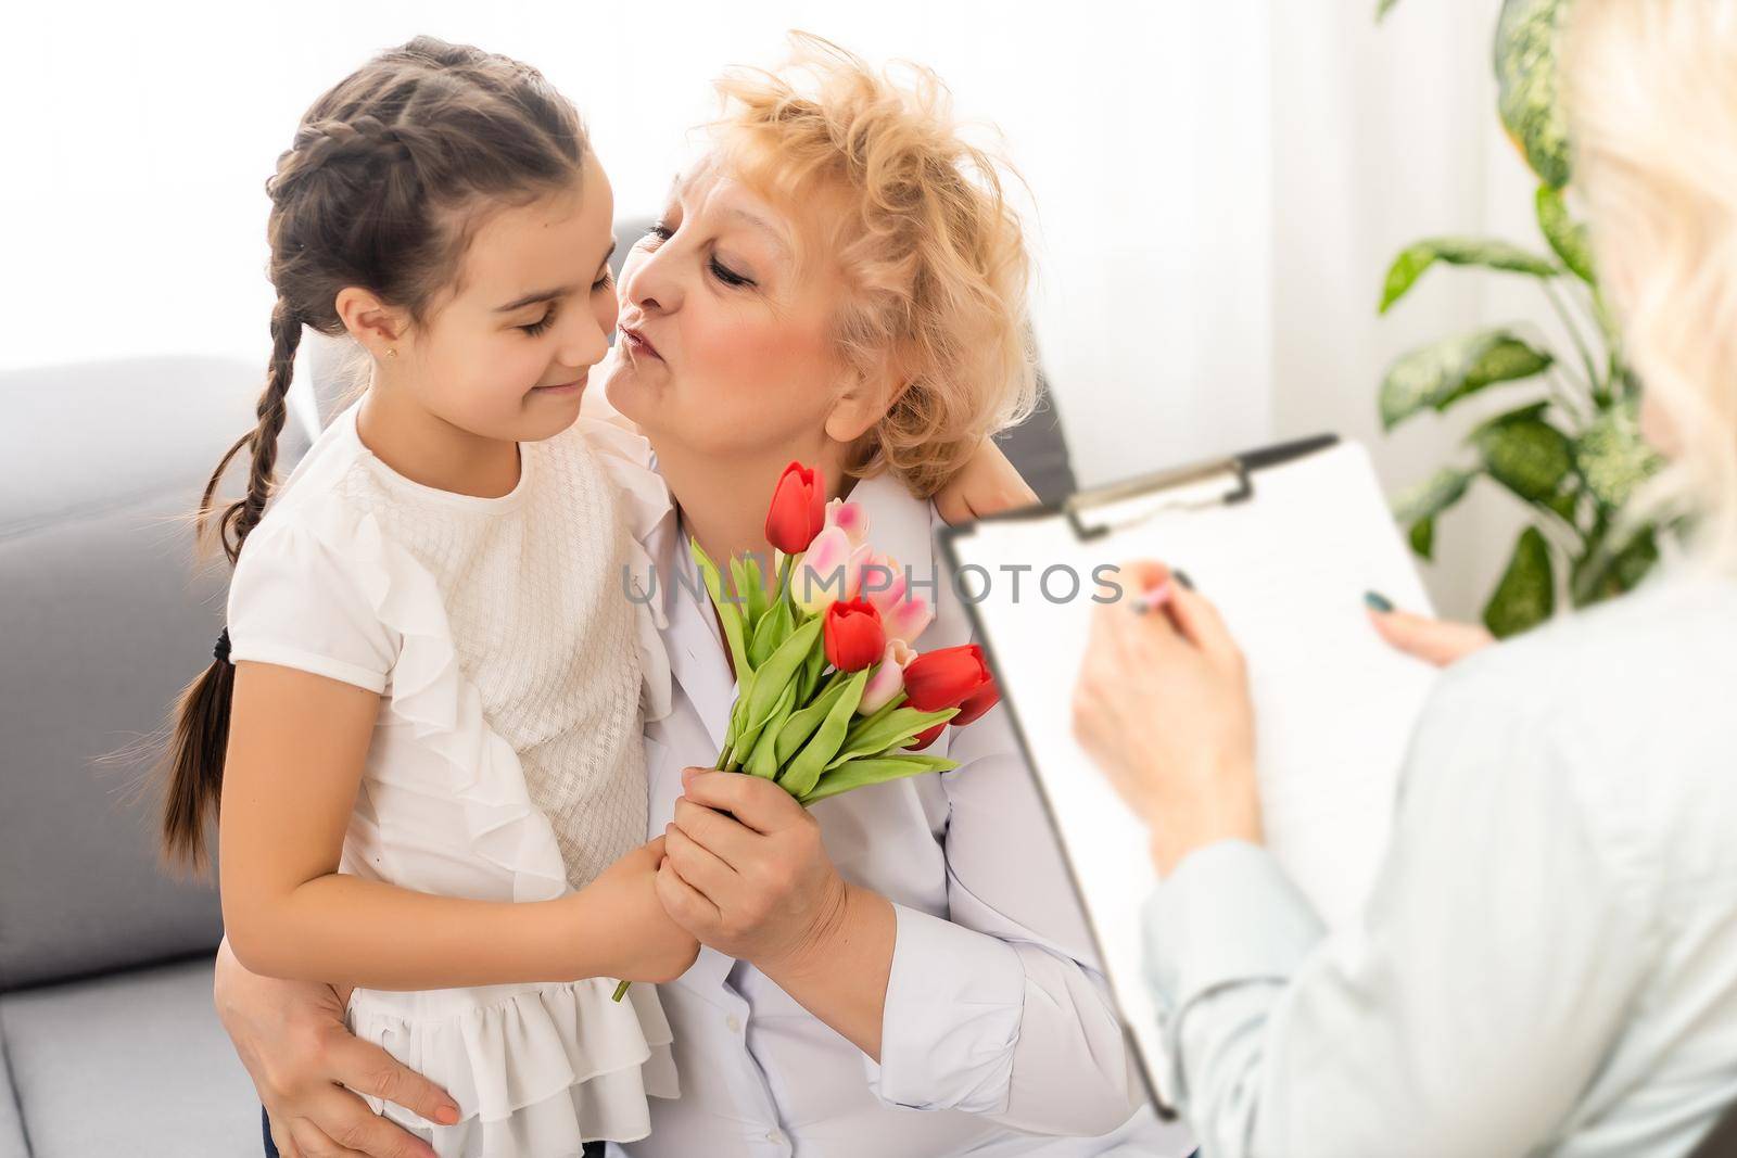
[[[1261,849],[1211,604],[1148,564],[1167,615],[1101,611],[1077,727],[1152,826],[1150,981],[1214,1158],[1674,1156],[1737,1101],[1737,3],[1570,19],[1579,186],[1695,552],[1445,674],[1339,936]]]

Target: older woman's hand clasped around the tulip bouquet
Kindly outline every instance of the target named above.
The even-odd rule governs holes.
[[[683,795],[658,872],[664,908],[719,953],[768,976],[823,955],[846,889],[820,821],[759,776],[683,771]]]

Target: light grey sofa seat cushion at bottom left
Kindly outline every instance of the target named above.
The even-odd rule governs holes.
[[[210,958],[7,993],[0,1028],[35,1158],[261,1153]]]

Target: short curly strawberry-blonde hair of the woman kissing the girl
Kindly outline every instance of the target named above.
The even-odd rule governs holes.
[[[716,155],[804,224],[799,260],[842,273],[846,363],[898,382],[846,470],[891,470],[926,498],[1035,406],[1025,236],[997,160],[962,139],[933,71],[905,64],[902,85],[829,40],[790,40],[785,68],[716,82]]]

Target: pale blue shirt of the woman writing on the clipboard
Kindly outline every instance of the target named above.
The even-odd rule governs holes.
[[[1450,668],[1357,929],[1223,842],[1146,953],[1207,1158],[1688,1153],[1737,1099],[1737,583]]]

